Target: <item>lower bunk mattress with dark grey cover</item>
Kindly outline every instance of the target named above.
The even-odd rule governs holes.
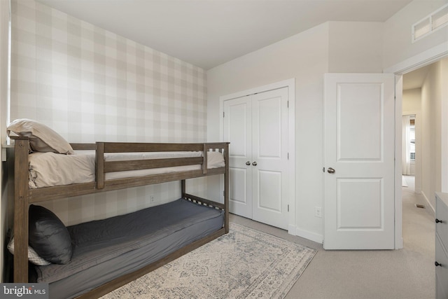
[[[131,214],[67,227],[73,256],[65,265],[35,266],[50,298],[73,298],[139,270],[223,228],[224,212],[176,200]]]

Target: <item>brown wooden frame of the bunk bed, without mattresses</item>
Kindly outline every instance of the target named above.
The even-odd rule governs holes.
[[[168,181],[181,181],[181,194],[186,200],[200,202],[204,205],[221,209],[225,213],[225,223],[221,230],[212,235],[193,242],[165,258],[151,265],[136,270],[130,274],[113,279],[112,281],[95,288],[89,293],[80,295],[79,298],[98,298],[156,268],[179,258],[185,253],[196,249],[207,242],[229,232],[229,166],[228,166],[228,142],[205,144],[153,144],[153,143],[117,143],[97,142],[96,144],[71,144],[73,150],[96,151],[96,179],[91,183],[77,183],[66,186],[30,189],[29,181],[29,139],[28,137],[11,137],[15,140],[14,148],[8,153],[8,165],[13,171],[13,198],[14,198],[14,282],[28,282],[28,209],[29,204],[55,200],[65,197],[86,195],[92,193],[118,190],[136,186],[145,186]],[[134,160],[105,162],[104,153],[130,153],[130,152],[164,152],[164,151],[220,151],[223,153],[225,167],[207,169],[207,155],[199,158],[170,158],[157,160]],[[107,172],[118,172],[135,169],[149,169],[160,167],[173,167],[183,165],[202,165],[201,169],[169,174],[151,174],[147,176],[132,177],[126,179],[105,180]],[[186,179],[201,176],[224,174],[224,203],[206,200],[201,197],[186,193]]]

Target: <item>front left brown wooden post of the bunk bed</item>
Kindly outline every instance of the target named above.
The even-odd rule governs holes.
[[[29,139],[14,137],[14,282],[28,282]]]

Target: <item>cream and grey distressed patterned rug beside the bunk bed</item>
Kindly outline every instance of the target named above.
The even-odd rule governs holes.
[[[316,252],[230,223],[227,235],[102,298],[284,298]]]

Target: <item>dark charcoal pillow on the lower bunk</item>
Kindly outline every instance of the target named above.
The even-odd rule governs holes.
[[[69,230],[50,210],[29,206],[29,246],[50,263],[66,264],[73,249]]]

